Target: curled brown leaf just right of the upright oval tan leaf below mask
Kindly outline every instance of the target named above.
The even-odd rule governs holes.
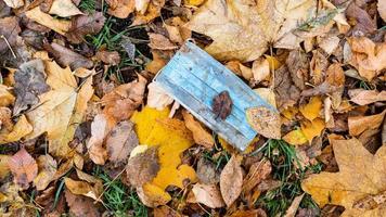
[[[252,190],[259,184],[262,180],[267,179],[271,174],[272,167],[271,163],[268,159],[262,159],[256,162],[249,168],[248,174],[246,175],[243,182],[243,193],[248,194]]]

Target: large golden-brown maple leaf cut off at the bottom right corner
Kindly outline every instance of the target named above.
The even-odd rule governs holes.
[[[342,216],[384,216],[384,200],[370,200],[371,205],[363,202],[385,192],[386,146],[381,146],[372,155],[357,139],[331,139],[331,143],[339,171],[311,175],[303,181],[303,190],[311,194],[321,207],[326,204],[344,206],[346,210]]]

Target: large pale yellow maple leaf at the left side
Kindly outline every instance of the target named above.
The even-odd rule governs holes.
[[[40,105],[26,115],[34,130],[26,139],[47,132],[49,151],[55,156],[69,157],[68,142],[73,140],[75,129],[81,123],[87,102],[93,94],[92,77],[80,87],[69,67],[62,68],[55,62],[44,62],[47,84],[52,88],[39,95]]]

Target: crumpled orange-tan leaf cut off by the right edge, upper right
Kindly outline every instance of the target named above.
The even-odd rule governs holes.
[[[352,52],[349,63],[361,77],[372,80],[386,68],[386,42],[375,44],[365,37],[351,37],[348,42]]]

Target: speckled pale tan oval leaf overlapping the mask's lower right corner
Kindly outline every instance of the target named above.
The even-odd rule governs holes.
[[[280,114],[273,108],[268,107],[249,107],[246,111],[246,119],[248,124],[258,133],[266,138],[280,139],[281,138],[281,119]]]

